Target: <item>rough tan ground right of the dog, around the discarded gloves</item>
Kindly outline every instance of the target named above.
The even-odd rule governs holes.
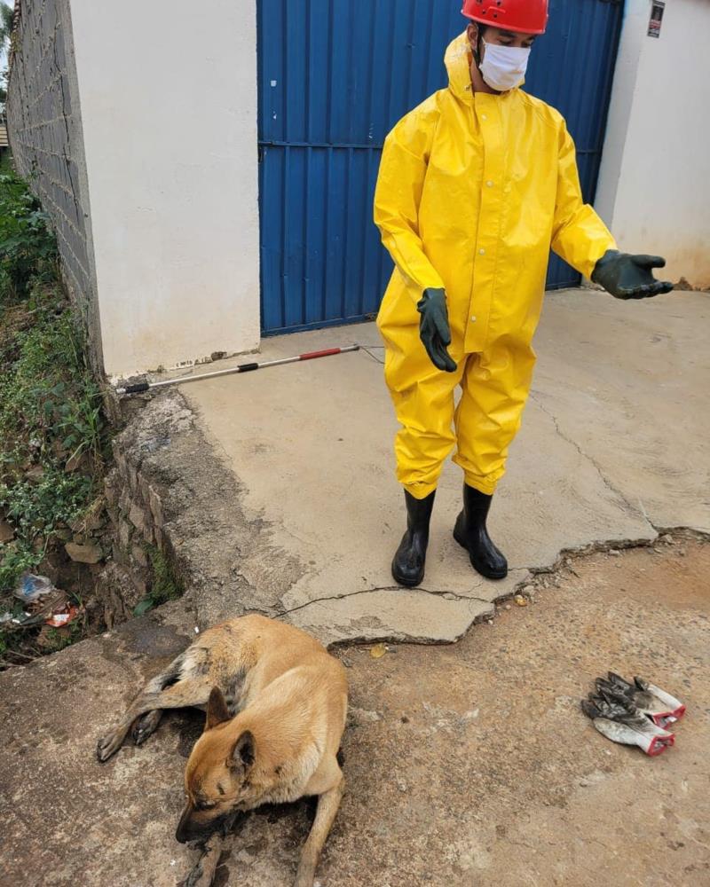
[[[708,883],[710,547],[572,568],[456,647],[343,654],[353,704],[381,718],[356,711],[324,883],[363,883],[358,857],[368,883],[393,885]],[[615,746],[580,714],[609,668],[686,701],[667,755]]]

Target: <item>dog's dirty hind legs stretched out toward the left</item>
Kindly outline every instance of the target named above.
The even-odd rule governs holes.
[[[121,723],[99,739],[96,750],[99,761],[107,761],[121,748],[131,727],[133,738],[140,744],[154,732],[163,710],[207,703],[212,684],[205,663],[195,662],[195,658],[195,651],[190,648],[177,656],[162,674],[148,681],[143,692],[130,704]]]

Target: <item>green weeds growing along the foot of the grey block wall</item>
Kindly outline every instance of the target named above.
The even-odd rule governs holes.
[[[0,522],[12,538],[0,544],[0,616],[17,611],[12,590],[22,572],[36,570],[48,552],[63,546],[98,494],[106,452],[101,405],[83,332],[59,279],[48,218],[27,185],[4,173]],[[0,624],[0,655],[10,640],[3,629]],[[76,640],[76,629],[55,633],[62,644],[67,636]],[[51,638],[45,640],[51,647]]]

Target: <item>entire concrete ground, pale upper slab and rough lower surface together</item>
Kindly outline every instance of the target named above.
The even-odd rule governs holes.
[[[498,585],[451,539],[461,478],[449,466],[426,590],[391,587],[404,527],[395,423],[366,353],[194,383],[146,406],[127,433],[166,490],[164,531],[190,583],[116,632],[0,675],[0,884],[167,887],[185,875],[193,851],[173,836],[201,716],[166,718],[104,766],[95,745],[195,627],[249,608],[325,642],[466,635],[381,659],[338,648],[351,665],[349,791],[322,887],[709,883],[710,555],[658,532],[710,531],[709,304],[550,296],[493,510],[513,567]],[[375,344],[374,328],[266,341],[264,357],[353,340]],[[652,546],[624,551],[630,541]],[[560,558],[580,546],[622,550]],[[561,573],[544,572],[556,562]],[[502,601],[488,624],[517,585],[539,588],[535,603]],[[609,667],[682,696],[675,749],[651,760],[589,726],[579,698]],[[253,816],[217,883],[288,885],[308,812]]]

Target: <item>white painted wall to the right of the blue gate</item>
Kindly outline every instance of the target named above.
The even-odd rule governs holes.
[[[596,208],[628,252],[710,287],[710,3],[627,0]]]

